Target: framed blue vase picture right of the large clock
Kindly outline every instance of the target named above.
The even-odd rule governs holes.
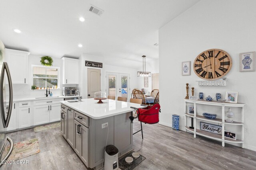
[[[240,53],[239,71],[255,71],[255,51]]]

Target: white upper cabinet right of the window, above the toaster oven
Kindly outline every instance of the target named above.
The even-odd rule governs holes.
[[[79,84],[79,59],[62,57],[62,84]]]

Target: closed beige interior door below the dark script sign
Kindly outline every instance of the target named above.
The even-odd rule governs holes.
[[[87,68],[88,98],[94,98],[94,93],[100,91],[100,69]]]

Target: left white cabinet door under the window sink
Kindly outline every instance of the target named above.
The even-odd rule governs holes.
[[[34,125],[49,123],[50,106],[34,106]]]

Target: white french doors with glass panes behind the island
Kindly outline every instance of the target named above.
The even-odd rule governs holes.
[[[106,72],[107,96],[125,97],[130,100],[130,74]]]

